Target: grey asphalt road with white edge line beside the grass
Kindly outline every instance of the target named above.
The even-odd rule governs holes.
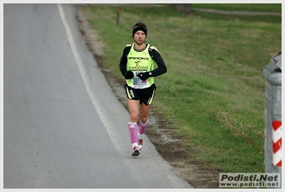
[[[4,188],[192,188],[147,137],[130,155],[128,111],[73,5],[4,4],[3,85]]]

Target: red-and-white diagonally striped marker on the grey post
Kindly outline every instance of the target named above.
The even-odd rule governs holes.
[[[282,163],[282,122],[272,121],[272,165],[281,166]]]

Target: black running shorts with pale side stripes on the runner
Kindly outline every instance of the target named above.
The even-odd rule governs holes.
[[[145,89],[133,89],[125,84],[125,94],[127,94],[127,97],[132,100],[140,100],[140,104],[145,103],[146,106],[152,103],[152,100],[155,97],[155,90],[155,84],[152,84]]]

